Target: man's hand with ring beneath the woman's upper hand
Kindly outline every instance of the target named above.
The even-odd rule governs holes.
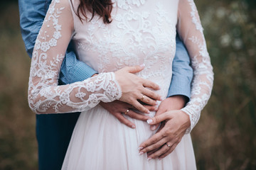
[[[136,126],[134,125],[134,123],[132,123],[130,120],[124,117],[124,113],[126,113],[125,115],[129,116],[130,118],[134,118],[137,120],[146,121],[149,119],[149,116],[143,115],[141,113],[137,113],[136,111],[134,111],[133,106],[131,106],[128,103],[124,103],[122,101],[112,101],[110,103],[100,102],[100,106],[102,106],[102,108],[105,108],[107,111],[109,111],[112,115],[114,115],[114,117],[116,117],[120,121],[120,123],[124,123],[124,125],[127,125],[129,128],[134,129],[136,128]],[[149,111],[157,111],[156,106],[144,106],[144,107],[149,109]],[[127,112],[127,109],[128,109],[128,112]]]

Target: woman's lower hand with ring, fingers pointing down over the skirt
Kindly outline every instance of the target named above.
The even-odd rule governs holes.
[[[190,126],[189,116],[180,110],[162,113],[147,122],[149,125],[163,123],[155,135],[139,146],[139,154],[147,153],[148,159],[162,159],[173,152]]]

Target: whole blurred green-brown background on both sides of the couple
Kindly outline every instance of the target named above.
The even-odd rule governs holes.
[[[215,72],[192,132],[198,169],[256,169],[256,0],[196,0]],[[17,1],[0,4],[0,169],[38,169]]]

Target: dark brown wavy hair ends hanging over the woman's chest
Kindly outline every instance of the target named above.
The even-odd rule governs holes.
[[[73,6],[72,1],[71,4]],[[113,3],[111,0],[80,0],[78,11],[75,14],[82,22],[82,20],[85,20],[82,18],[82,16],[88,19],[86,16],[87,10],[92,13],[92,18],[95,16],[95,13],[97,13],[100,17],[103,18],[104,23],[111,23],[111,11],[113,8],[112,4]],[[90,18],[90,21],[92,21],[92,18]]]

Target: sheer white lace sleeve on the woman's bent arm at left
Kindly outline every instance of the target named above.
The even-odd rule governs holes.
[[[114,73],[58,86],[60,67],[73,34],[70,10],[68,0],[53,0],[36,39],[28,83],[28,104],[35,113],[85,111],[122,95]]]

